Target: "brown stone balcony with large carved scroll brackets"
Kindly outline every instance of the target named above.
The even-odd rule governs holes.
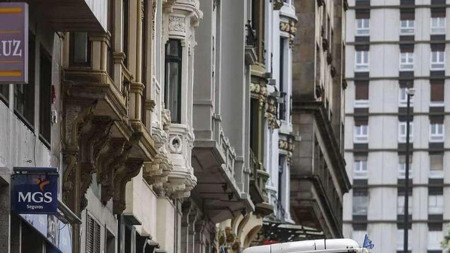
[[[63,72],[63,200],[77,215],[96,173],[101,201],[113,200],[113,212],[125,209],[125,185],[144,162],[156,156],[155,143],[143,122],[130,119],[128,99],[133,77],[115,53],[116,78],[106,70],[106,34],[91,34],[91,66],[68,66]]]

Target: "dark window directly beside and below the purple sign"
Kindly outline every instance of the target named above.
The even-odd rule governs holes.
[[[28,84],[14,84],[14,113],[25,121],[28,127],[34,126],[34,65],[35,65],[35,40],[29,33],[28,42]],[[0,84],[1,85],[1,84]],[[8,87],[8,85],[3,85]]]

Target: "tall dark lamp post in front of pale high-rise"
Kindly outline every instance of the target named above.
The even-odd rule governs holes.
[[[415,89],[409,88],[407,94],[407,109],[406,109],[406,168],[404,172],[404,214],[403,214],[403,253],[408,252],[408,216],[409,216],[409,188],[410,188],[410,102],[411,97],[414,96]]]

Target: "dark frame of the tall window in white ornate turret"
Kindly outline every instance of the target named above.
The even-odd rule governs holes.
[[[167,51],[169,48],[169,44],[172,42],[176,42],[178,43],[178,54],[175,55],[168,55]],[[182,74],[183,74],[183,47],[182,47],[182,43],[181,40],[179,39],[169,39],[165,45],[165,67],[164,67],[164,104],[166,106],[167,109],[171,109],[172,112],[172,108],[168,108],[169,103],[168,103],[168,98],[169,98],[169,86],[170,84],[168,83],[168,66],[169,63],[178,63],[178,91],[177,91],[177,117],[176,119],[172,118],[173,114],[171,113],[171,120],[172,123],[178,123],[181,124],[181,104],[182,104]]]

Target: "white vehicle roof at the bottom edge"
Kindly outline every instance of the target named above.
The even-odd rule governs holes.
[[[371,253],[351,239],[320,239],[255,246],[242,253]]]

